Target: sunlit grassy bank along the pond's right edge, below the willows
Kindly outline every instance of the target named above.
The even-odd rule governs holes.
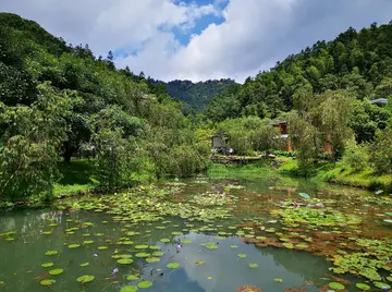
[[[283,161],[283,163],[278,169],[279,173],[296,177],[301,174],[295,159],[279,159]],[[318,165],[315,165],[310,173],[311,177],[316,177],[317,179],[324,182],[363,187],[371,191],[383,190],[384,192],[392,193],[392,175],[378,175],[375,170],[370,168],[356,171],[343,162],[334,163],[322,161]]]

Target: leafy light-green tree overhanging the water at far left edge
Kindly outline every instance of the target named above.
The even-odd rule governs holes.
[[[0,198],[49,197],[57,171],[57,148],[65,138],[65,117],[73,107],[68,93],[38,87],[30,107],[0,104]]]

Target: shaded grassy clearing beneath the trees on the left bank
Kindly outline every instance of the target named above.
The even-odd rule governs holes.
[[[94,161],[88,159],[74,159],[70,165],[59,166],[62,179],[54,184],[54,196],[69,196],[86,193],[97,187],[97,182],[91,179]]]

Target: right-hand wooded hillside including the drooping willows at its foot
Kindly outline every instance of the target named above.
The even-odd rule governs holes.
[[[377,98],[389,102],[370,102]],[[348,28],[289,56],[215,98],[206,117],[241,154],[275,148],[271,119],[286,120],[302,173],[326,157],[342,158],[341,171],[365,171],[363,180],[391,173],[392,22]]]

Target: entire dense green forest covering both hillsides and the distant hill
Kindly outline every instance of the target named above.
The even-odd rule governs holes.
[[[163,83],[113,60],[0,13],[0,200],[50,198],[75,156],[93,156],[90,180],[115,190],[200,172],[217,133],[238,155],[280,149],[277,119],[302,175],[320,159],[392,172],[392,23],[348,28],[243,85]]]

